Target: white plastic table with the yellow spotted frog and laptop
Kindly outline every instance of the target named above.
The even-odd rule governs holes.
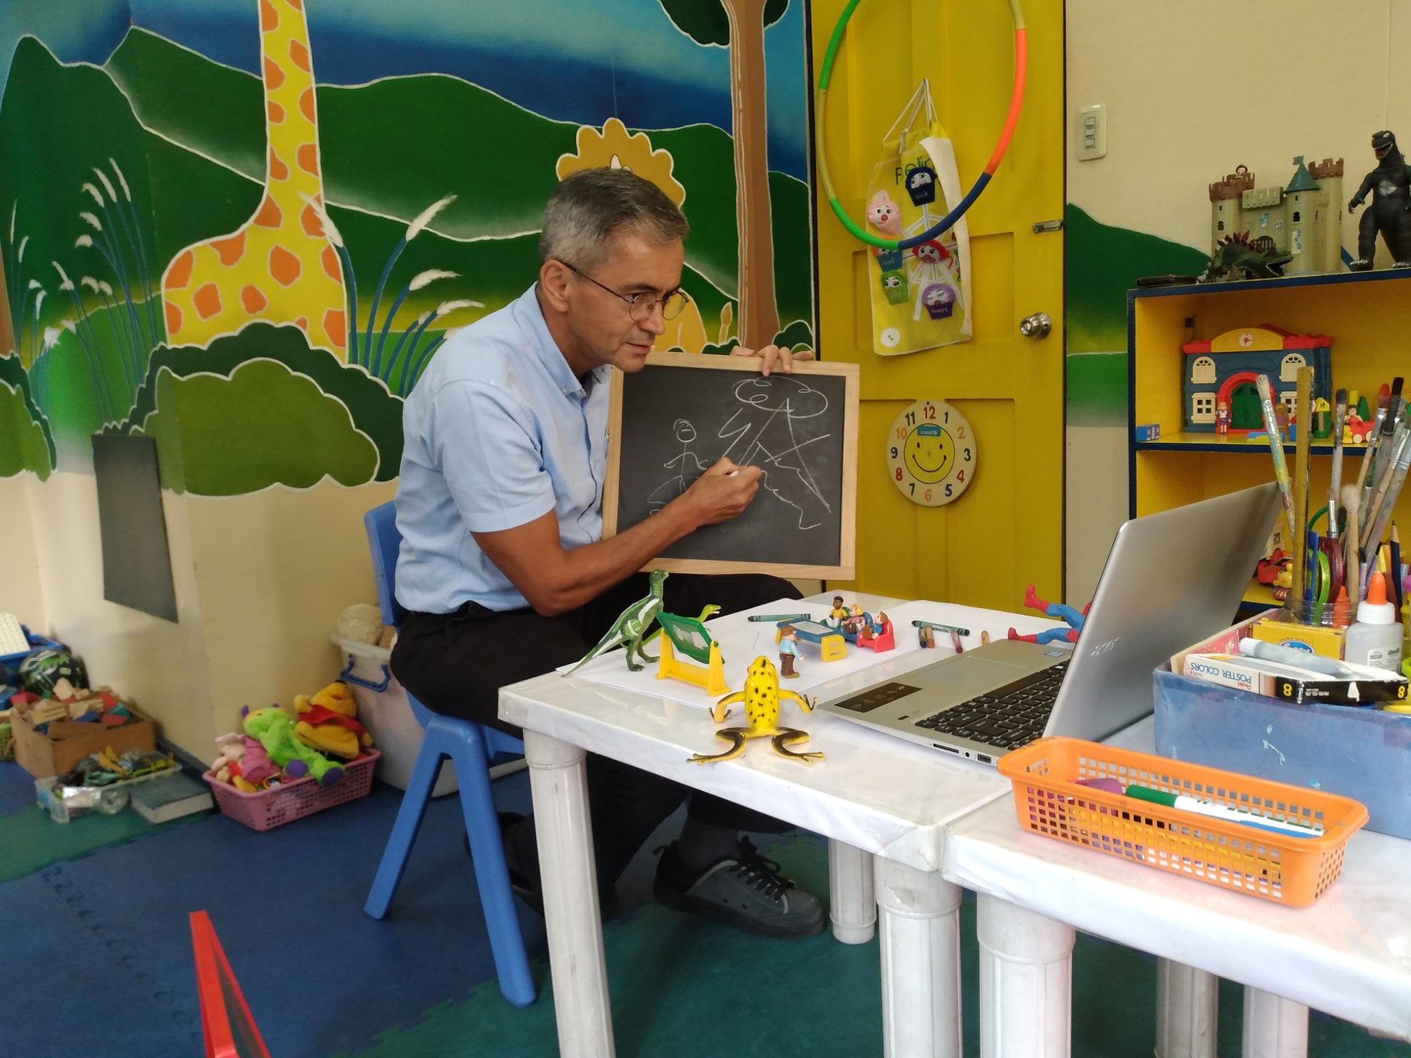
[[[831,592],[811,601],[830,600]],[[869,595],[849,601],[871,611],[897,604]],[[941,604],[937,614],[976,636],[979,629],[1003,635],[1009,625],[1022,632],[1053,626],[1043,618]],[[902,635],[914,633],[897,629]],[[868,680],[947,652],[899,655],[869,670]],[[728,674],[737,676],[734,669],[751,659],[727,660]],[[502,688],[499,715],[525,729],[562,1055],[614,1052],[587,807],[590,752],[827,835],[835,935],[868,940],[873,907],[880,910],[885,1054],[959,1057],[961,890],[940,872],[947,825],[1010,789],[993,769],[823,712],[796,724],[811,732],[809,749],[827,753],[821,765],[786,760],[768,745],[751,745],[737,760],[693,765],[691,753],[718,748],[708,712],[556,673]]]

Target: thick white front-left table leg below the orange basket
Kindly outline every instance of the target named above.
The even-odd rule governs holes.
[[[1072,1047],[1072,927],[981,893],[981,1058],[1067,1058]]]

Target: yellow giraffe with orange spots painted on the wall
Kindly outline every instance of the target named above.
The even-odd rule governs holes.
[[[251,320],[293,323],[313,348],[343,355],[343,264],[320,219],[319,120],[303,0],[255,0],[265,97],[260,209],[237,231],[186,247],[166,265],[174,346],[205,346]]]

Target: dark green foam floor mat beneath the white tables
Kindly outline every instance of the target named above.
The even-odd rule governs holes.
[[[804,887],[827,892],[828,855],[809,841],[769,848]],[[975,901],[961,907],[965,1057],[979,1055]],[[858,1058],[882,1052],[878,941],[830,934],[772,941],[650,904],[604,928],[619,1058]],[[1154,1045],[1156,961],[1089,937],[1074,949],[1074,1058],[1133,1058]],[[358,1058],[543,1058],[557,1054],[547,966],[535,966],[539,1002],[509,1006],[494,980],[381,1033]],[[1240,1052],[1243,992],[1221,985],[1219,1054]],[[1309,1021],[1309,1058],[1411,1058],[1411,1045],[1374,1040],[1324,1016]],[[347,1052],[344,1052],[347,1055]],[[344,1058],[340,1055],[340,1058]]]

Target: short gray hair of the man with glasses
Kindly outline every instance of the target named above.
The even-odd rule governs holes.
[[[579,169],[560,181],[543,210],[539,264],[563,261],[591,272],[624,230],[667,244],[684,240],[690,224],[660,188],[629,169]]]

